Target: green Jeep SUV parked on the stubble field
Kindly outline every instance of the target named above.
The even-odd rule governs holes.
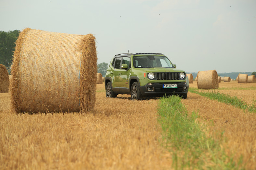
[[[161,53],[115,55],[105,76],[106,97],[131,94],[143,97],[179,95],[187,98],[188,78]]]

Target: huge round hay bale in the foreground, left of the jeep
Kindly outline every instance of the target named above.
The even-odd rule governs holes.
[[[83,112],[96,100],[97,56],[92,34],[26,28],[16,41],[11,104],[16,112]]]

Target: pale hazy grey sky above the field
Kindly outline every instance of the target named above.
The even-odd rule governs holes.
[[[97,63],[163,53],[186,72],[256,71],[256,0],[0,0],[0,31],[96,37]]]

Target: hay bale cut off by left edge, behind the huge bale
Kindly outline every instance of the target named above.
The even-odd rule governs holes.
[[[0,93],[8,93],[9,84],[9,74],[7,69],[3,64],[0,64]]]

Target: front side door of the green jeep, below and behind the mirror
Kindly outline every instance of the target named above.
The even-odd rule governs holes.
[[[130,75],[130,57],[123,57],[122,58],[122,64],[127,64],[127,69],[121,69],[119,71],[119,86],[121,92],[129,92],[129,75]],[[121,65],[122,65],[121,64]]]

